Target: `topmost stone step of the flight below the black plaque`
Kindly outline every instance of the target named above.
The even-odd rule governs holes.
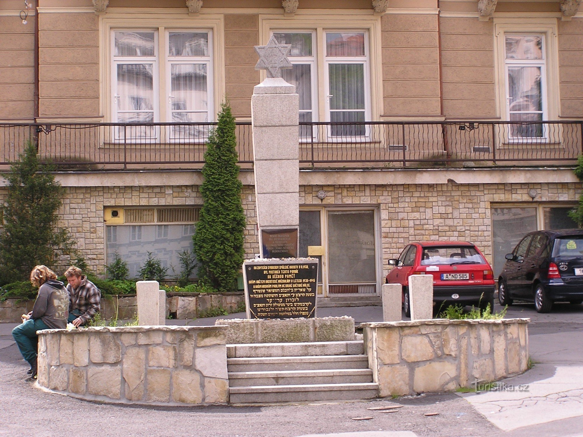
[[[227,344],[227,358],[310,357],[312,355],[362,355],[363,353],[364,343],[362,340]]]

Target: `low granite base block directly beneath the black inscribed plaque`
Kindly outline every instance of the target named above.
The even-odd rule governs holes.
[[[222,319],[216,320],[215,324],[227,326],[227,344],[354,340],[354,319],[347,316],[285,320]]]

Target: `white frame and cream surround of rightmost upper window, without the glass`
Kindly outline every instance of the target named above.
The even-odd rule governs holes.
[[[506,36],[537,35],[543,37],[542,60],[506,59]],[[556,18],[494,18],[494,64],[497,71],[498,115],[508,125],[503,127],[501,142],[507,145],[537,145],[560,143],[560,129],[549,129],[543,125],[543,137],[512,138],[510,133],[510,110],[508,103],[508,65],[542,66],[542,106],[543,121],[559,119],[559,48],[558,27]]]

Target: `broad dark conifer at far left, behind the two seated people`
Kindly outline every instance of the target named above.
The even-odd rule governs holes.
[[[4,281],[27,280],[34,266],[52,266],[58,252],[71,249],[68,232],[57,226],[65,190],[49,170],[41,168],[29,141],[20,160],[3,175],[8,182],[0,234]]]

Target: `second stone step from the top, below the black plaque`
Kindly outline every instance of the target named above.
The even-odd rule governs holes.
[[[311,357],[227,358],[229,372],[367,369],[366,355],[319,355]]]

